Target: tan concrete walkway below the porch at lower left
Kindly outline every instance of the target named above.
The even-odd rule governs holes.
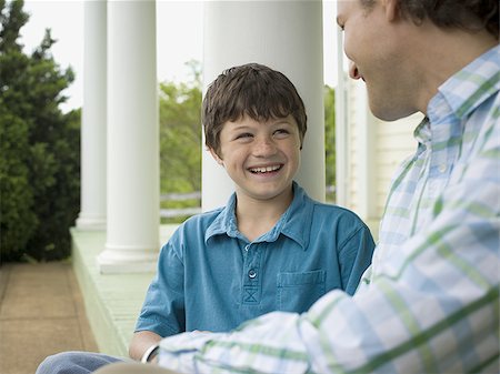
[[[0,267],[0,373],[33,374],[61,351],[97,352],[71,263]]]

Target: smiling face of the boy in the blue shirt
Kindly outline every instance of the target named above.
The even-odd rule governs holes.
[[[267,122],[244,115],[224,123],[219,155],[210,151],[236,183],[239,198],[278,198],[291,192],[300,165],[298,125],[291,115]]]

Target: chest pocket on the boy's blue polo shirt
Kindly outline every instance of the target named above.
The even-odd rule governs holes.
[[[306,312],[322,295],[327,272],[313,270],[304,273],[278,273],[277,304],[283,312]]]

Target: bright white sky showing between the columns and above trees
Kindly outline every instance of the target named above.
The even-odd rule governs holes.
[[[87,0],[89,1],[89,0]],[[30,14],[21,29],[20,42],[31,53],[43,39],[44,30],[51,29],[52,54],[62,69],[71,67],[74,82],[64,94],[69,97],[62,111],[80,108],[83,101],[83,1],[82,0],[24,0],[24,11]],[[324,82],[337,84],[336,75],[336,4],[323,1],[323,53]],[[202,59],[202,1],[157,0],[157,71],[159,81],[186,81],[189,68],[186,62]],[[161,21],[160,21],[161,20]],[[167,38],[179,34],[181,38]],[[176,53],[171,53],[176,51]]]

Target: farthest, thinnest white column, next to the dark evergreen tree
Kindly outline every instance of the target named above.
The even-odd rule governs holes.
[[[79,230],[106,229],[106,0],[86,1]]]

